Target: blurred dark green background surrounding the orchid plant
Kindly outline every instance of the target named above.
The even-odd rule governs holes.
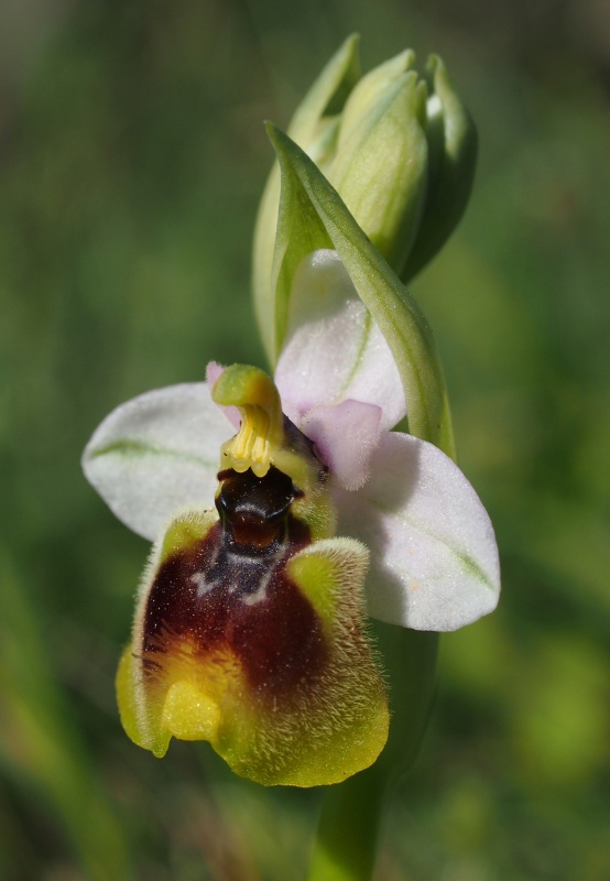
[[[119,402],[263,365],[249,250],[272,152],[351,31],[443,55],[467,217],[413,289],[504,592],[443,639],[379,881],[610,878],[610,9],[603,0],[9,0],[0,7],[0,878],[298,881],[319,792],[206,744],[162,762],[113,675],[146,544],[79,456]]]

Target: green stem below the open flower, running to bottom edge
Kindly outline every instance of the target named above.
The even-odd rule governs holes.
[[[369,881],[391,783],[415,761],[434,697],[438,634],[375,623],[392,724],[378,761],[327,788],[307,881]]]

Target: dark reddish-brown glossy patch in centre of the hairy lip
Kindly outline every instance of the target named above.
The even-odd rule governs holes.
[[[311,536],[290,513],[295,493],[285,475],[272,468],[264,478],[220,477],[220,522],[154,578],[144,668],[161,673],[163,653],[187,639],[203,657],[228,650],[259,697],[290,696],[315,681],[327,656],[320,622],[285,572]]]

